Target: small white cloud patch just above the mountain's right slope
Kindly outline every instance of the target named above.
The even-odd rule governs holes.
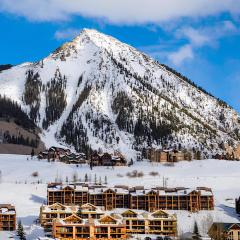
[[[180,65],[183,61],[187,59],[192,59],[194,57],[193,49],[191,45],[182,46],[177,52],[169,54],[168,59],[174,65]]]

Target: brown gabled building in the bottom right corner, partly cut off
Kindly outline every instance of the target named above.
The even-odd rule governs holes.
[[[240,223],[213,223],[208,235],[214,240],[239,240]]]

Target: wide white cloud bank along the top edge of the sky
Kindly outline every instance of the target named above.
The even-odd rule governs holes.
[[[221,13],[239,15],[239,0],[0,0],[0,11],[31,21],[67,21],[72,16],[112,24],[159,23]]]

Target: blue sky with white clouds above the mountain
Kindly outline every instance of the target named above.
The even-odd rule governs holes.
[[[144,51],[240,112],[239,0],[0,0],[0,64],[37,61],[82,28]]]

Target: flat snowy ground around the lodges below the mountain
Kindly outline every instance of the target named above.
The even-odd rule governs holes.
[[[28,159],[28,160],[27,160]],[[128,172],[137,170],[143,172],[141,178],[129,178]],[[132,167],[95,167],[91,171],[89,166],[66,165],[63,163],[48,163],[47,161],[31,160],[28,156],[0,155],[0,203],[12,203],[16,206],[17,217],[21,219],[28,240],[43,237],[40,226],[34,224],[39,214],[39,207],[46,202],[46,184],[56,179],[72,180],[77,175],[84,180],[87,173],[94,181],[95,174],[99,181],[104,182],[107,176],[108,183],[162,186],[163,178],[167,179],[168,187],[211,187],[215,195],[215,210],[200,213],[175,211],[178,216],[179,233],[191,231],[196,220],[202,234],[206,234],[208,225],[214,221],[238,222],[240,219],[235,213],[234,199],[240,196],[240,162],[202,160],[180,162],[175,166],[166,166],[157,163],[138,162]],[[37,171],[39,176],[33,177]],[[150,173],[158,172],[158,176]],[[173,211],[169,211],[173,213]],[[8,239],[14,233],[0,233],[0,239]],[[17,239],[17,238],[16,238]]]

